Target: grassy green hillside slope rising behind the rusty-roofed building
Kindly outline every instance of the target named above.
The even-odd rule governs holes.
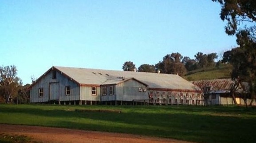
[[[230,78],[231,71],[232,65],[221,64],[219,68],[202,68],[194,71],[189,71],[183,78],[189,81],[201,79],[227,79]]]

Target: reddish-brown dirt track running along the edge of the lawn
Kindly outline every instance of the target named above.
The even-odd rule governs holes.
[[[189,143],[141,135],[9,124],[0,124],[0,133],[27,135],[43,143]]]

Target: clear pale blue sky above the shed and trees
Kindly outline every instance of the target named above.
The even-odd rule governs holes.
[[[0,0],[0,65],[23,83],[52,66],[122,70],[236,47],[211,0]]]

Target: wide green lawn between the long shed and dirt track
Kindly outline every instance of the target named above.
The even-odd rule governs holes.
[[[122,113],[95,112],[99,109]],[[0,123],[121,132],[199,143],[256,142],[256,109],[238,106],[0,105]]]

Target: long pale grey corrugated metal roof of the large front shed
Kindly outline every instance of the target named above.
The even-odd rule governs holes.
[[[53,68],[63,72],[65,75],[69,76],[80,84],[101,85],[107,80],[124,77],[137,79],[138,81],[148,85],[150,88],[201,90],[179,75],[57,66],[54,66]]]

